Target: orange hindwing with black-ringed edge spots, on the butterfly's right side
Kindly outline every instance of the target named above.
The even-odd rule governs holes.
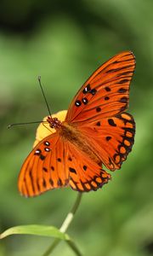
[[[134,142],[135,122],[131,114],[120,113],[89,125],[82,124],[79,129],[108,169],[121,168]]]

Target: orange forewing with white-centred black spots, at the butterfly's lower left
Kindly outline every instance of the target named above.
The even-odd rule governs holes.
[[[65,143],[54,133],[45,137],[26,158],[19,176],[21,195],[40,195],[48,189],[65,187]]]

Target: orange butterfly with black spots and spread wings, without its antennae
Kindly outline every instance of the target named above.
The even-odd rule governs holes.
[[[104,166],[110,171],[120,169],[133,147],[135,122],[125,111],[134,68],[131,51],[115,55],[78,90],[64,120],[47,117],[48,135],[21,167],[21,195],[67,186],[88,192],[108,183],[111,174]]]

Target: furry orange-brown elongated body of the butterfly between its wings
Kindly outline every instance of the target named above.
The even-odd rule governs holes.
[[[76,125],[62,122],[58,132],[59,136],[61,136],[64,140],[67,140],[75,145],[84,154],[87,154],[90,159],[94,160],[94,162],[101,166],[99,156],[95,154],[91,143],[89,143],[87,137],[83,136],[82,132],[77,129]]]

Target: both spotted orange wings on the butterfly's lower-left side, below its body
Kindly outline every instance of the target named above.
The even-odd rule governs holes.
[[[28,197],[68,184],[77,191],[97,190],[110,178],[88,155],[53,135],[31,151],[21,168],[18,186],[20,194]]]

